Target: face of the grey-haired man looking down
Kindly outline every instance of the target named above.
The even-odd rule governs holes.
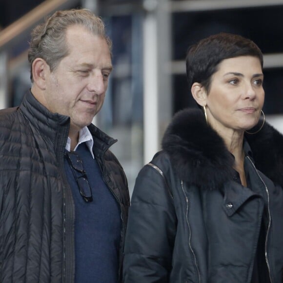
[[[80,25],[66,31],[68,55],[48,72],[43,103],[51,112],[69,116],[70,130],[80,130],[93,120],[104,101],[112,70],[105,39]]]

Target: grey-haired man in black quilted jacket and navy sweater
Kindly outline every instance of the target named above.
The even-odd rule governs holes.
[[[0,282],[118,283],[129,193],[91,124],[112,70],[111,41],[88,10],[32,32],[31,91],[0,111]]]

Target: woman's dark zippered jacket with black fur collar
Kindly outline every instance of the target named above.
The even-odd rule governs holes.
[[[246,137],[249,187],[199,109],[174,117],[162,147],[136,180],[123,282],[250,283],[263,227],[258,268],[282,283],[283,136],[266,124]]]

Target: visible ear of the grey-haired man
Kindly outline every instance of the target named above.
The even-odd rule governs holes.
[[[37,86],[41,90],[45,90],[46,79],[48,78],[49,74],[50,74],[50,67],[46,63],[46,61],[43,60],[42,58],[36,58],[32,63],[32,77],[34,83],[37,84]]]

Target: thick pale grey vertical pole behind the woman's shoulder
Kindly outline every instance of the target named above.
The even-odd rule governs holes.
[[[143,83],[144,163],[160,150],[172,117],[171,15],[168,0],[144,0]]]

